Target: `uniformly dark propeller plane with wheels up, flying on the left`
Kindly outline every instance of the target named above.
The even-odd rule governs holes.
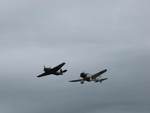
[[[61,68],[65,65],[66,63],[63,62],[59,65],[57,65],[56,67],[54,68],[51,68],[51,67],[45,67],[44,66],[44,73],[38,75],[37,77],[43,77],[43,76],[47,76],[47,75],[63,75],[65,72],[67,72],[67,70],[62,70]]]

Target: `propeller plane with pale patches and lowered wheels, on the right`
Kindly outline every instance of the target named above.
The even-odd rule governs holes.
[[[80,74],[81,79],[71,80],[69,82],[80,82],[81,84],[83,84],[84,81],[87,81],[87,82],[94,81],[94,82],[100,82],[100,83],[102,83],[104,80],[108,79],[108,78],[101,78],[101,75],[103,73],[105,73],[106,71],[107,71],[107,69],[104,69],[104,70],[102,70],[102,71],[100,71],[100,72],[98,72],[96,74],[93,74],[93,75],[91,75],[89,73],[82,72]]]

